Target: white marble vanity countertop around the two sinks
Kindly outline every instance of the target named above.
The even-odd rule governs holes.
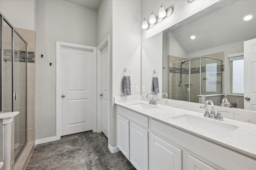
[[[219,121],[215,119],[206,118],[203,116],[204,110],[202,113],[189,111],[185,109],[180,109],[171,106],[165,106],[158,104],[157,108],[152,109],[139,109],[137,107],[131,106],[132,104],[144,103],[148,104],[146,101],[142,100],[133,100],[133,101],[116,101],[115,104],[130,109],[132,111],[136,111],[141,113],[142,115],[146,115],[158,121],[161,121],[167,125],[200,137],[202,139],[206,139],[212,143],[216,143],[228,149],[234,150],[246,156],[256,159],[256,125],[251,123],[245,123],[242,121],[236,121],[233,119],[224,118],[224,121]],[[192,125],[182,123],[180,121],[174,120],[171,117],[179,116],[179,115],[193,115],[197,117],[201,117],[202,119],[210,119],[212,121],[216,121],[216,125],[218,123],[226,123],[229,125],[235,125],[239,128],[227,133],[227,134],[218,134],[211,131],[207,131],[201,129],[199,127],[194,127]]]

